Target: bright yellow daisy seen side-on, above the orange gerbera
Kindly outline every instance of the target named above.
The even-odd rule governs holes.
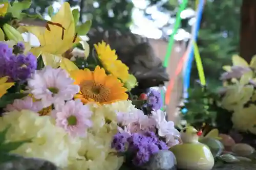
[[[117,60],[116,51],[111,50],[110,45],[104,41],[98,43],[98,45],[94,44],[94,47],[104,68],[122,82],[126,82],[129,78],[129,67],[121,60]]]

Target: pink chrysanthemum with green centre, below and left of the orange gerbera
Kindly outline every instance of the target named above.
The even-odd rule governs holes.
[[[87,135],[87,129],[92,126],[90,120],[92,111],[80,100],[71,100],[65,105],[56,106],[52,116],[56,118],[56,126],[62,127],[71,136]]]

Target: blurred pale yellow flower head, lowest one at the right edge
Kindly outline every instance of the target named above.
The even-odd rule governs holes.
[[[231,120],[234,129],[243,132],[251,132],[256,134],[256,106],[250,105],[247,108],[234,110]]]

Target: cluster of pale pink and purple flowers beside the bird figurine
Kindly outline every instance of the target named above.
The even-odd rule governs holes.
[[[144,115],[139,109],[118,112],[117,124],[119,132],[114,136],[112,148],[125,156],[123,166],[143,167],[152,155],[180,143],[179,131],[173,122],[166,121],[160,109],[150,115]]]

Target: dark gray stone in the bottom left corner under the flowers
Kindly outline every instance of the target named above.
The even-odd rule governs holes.
[[[61,170],[53,163],[36,158],[24,158],[18,156],[17,159],[0,164],[1,170]]]

